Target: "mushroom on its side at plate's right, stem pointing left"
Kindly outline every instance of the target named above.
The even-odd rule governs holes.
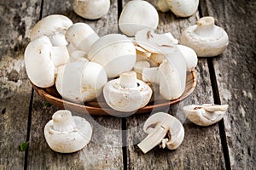
[[[160,95],[167,100],[179,98],[186,86],[187,64],[178,48],[169,50],[159,67],[143,69],[143,81],[160,85]]]

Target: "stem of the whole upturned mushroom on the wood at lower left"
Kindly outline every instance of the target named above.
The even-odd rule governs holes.
[[[71,132],[76,126],[70,111],[57,111],[52,120],[53,129],[58,132]]]

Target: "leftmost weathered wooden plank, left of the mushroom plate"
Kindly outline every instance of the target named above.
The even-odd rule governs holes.
[[[23,53],[30,26],[38,20],[38,2],[0,3],[0,169],[23,169],[31,85]]]

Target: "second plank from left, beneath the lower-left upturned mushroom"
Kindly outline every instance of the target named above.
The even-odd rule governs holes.
[[[73,13],[72,1],[44,1],[43,16],[64,14],[73,22],[85,22],[99,34],[117,32],[117,2],[111,1],[109,13],[101,20],[84,20]],[[44,109],[44,100],[34,95],[32,111],[31,145],[28,169],[120,169],[123,167],[121,119],[117,117],[83,116],[93,127],[90,143],[73,154],[59,154],[50,150],[44,139],[44,125],[57,111],[55,106]]]

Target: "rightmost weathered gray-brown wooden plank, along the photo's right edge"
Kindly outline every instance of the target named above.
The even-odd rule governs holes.
[[[256,167],[255,2],[202,1],[230,37],[224,54],[213,59],[222,104],[229,104],[224,127],[232,169]]]

